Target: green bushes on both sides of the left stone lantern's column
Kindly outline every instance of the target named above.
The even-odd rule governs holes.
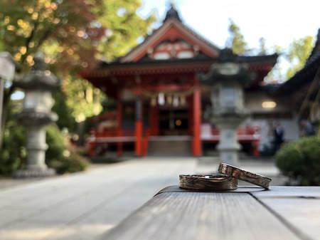
[[[56,125],[46,127],[46,164],[58,172],[78,172],[87,169],[89,162],[75,150],[68,149],[68,142]],[[10,175],[26,163],[26,128],[11,120],[6,125],[4,143],[0,153],[0,174]]]

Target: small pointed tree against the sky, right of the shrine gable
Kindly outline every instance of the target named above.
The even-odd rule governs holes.
[[[243,55],[250,52],[250,48],[247,46],[245,37],[242,35],[240,28],[232,19],[229,19],[230,24],[228,26],[229,38],[226,46],[233,50],[233,53]]]

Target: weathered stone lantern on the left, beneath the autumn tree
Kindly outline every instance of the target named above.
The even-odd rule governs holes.
[[[46,165],[46,125],[58,120],[51,112],[54,100],[52,91],[60,88],[60,80],[46,67],[44,56],[37,53],[30,73],[16,86],[25,91],[23,110],[17,115],[19,122],[27,129],[27,162],[25,169],[18,170],[16,177],[45,177],[55,174]]]

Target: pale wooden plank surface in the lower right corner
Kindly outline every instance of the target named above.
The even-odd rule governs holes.
[[[277,187],[252,192],[302,239],[320,239],[320,187]]]

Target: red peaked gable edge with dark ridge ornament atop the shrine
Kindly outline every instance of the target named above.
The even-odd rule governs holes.
[[[120,62],[140,61],[146,56],[149,49],[155,48],[162,41],[174,41],[176,39],[183,39],[192,46],[197,46],[201,53],[210,58],[217,58],[219,56],[220,49],[184,25],[178,16],[178,12],[171,6],[171,9],[166,14],[164,23],[151,33],[150,36],[146,37],[143,43],[133,48],[126,56],[120,58]]]

